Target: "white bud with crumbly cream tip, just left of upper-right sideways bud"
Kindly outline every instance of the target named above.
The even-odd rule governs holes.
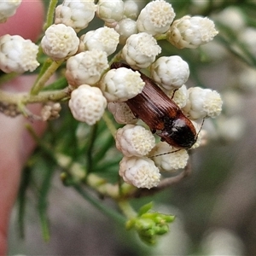
[[[172,4],[163,0],[148,3],[137,18],[139,32],[156,35],[165,33],[175,17]]]

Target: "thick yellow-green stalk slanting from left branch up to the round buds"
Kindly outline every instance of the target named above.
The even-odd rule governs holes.
[[[37,95],[40,90],[44,88],[45,83],[49,80],[49,78],[55,73],[56,69],[61,66],[61,61],[53,61],[45,73],[41,76],[40,79],[36,81],[36,83],[32,86],[31,95]]]

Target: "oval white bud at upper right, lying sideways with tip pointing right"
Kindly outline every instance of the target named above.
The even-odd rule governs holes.
[[[212,41],[217,34],[212,20],[207,17],[186,15],[172,23],[167,32],[167,40],[178,49],[195,49]]]

